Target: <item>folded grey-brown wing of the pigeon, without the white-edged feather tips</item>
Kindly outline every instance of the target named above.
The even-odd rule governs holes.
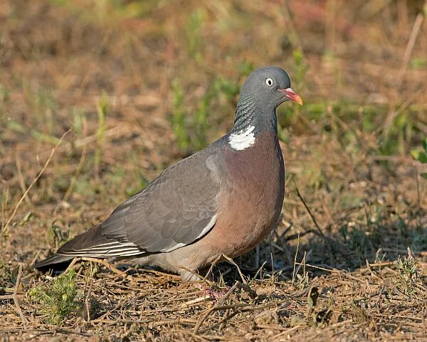
[[[216,222],[216,159],[198,153],[169,167],[102,222],[102,235],[144,252],[170,252],[203,237]]]

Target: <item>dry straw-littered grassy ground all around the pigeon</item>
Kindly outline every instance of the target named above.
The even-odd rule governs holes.
[[[0,0],[1,340],[427,341],[410,154],[427,135],[425,15],[421,0]],[[305,106],[279,110],[280,225],[242,274],[214,269],[224,296],[132,264],[26,270],[226,133],[269,64]]]

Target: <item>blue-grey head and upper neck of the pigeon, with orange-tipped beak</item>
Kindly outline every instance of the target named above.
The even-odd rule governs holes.
[[[278,66],[265,66],[249,75],[241,88],[231,133],[241,133],[253,127],[253,134],[263,131],[277,133],[276,108],[292,100],[302,105],[302,99],[290,88],[288,73]]]

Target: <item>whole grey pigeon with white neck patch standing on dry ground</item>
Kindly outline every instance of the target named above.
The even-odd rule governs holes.
[[[75,257],[133,259],[195,281],[223,256],[250,251],[277,226],[283,206],[276,108],[288,100],[302,105],[282,68],[253,71],[228,134],[164,170],[33,267],[54,270]]]

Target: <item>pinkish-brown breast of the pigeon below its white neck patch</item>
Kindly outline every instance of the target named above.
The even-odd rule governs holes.
[[[230,257],[255,247],[278,222],[284,196],[284,165],[278,138],[263,133],[245,150],[225,152],[226,182],[216,226]]]

